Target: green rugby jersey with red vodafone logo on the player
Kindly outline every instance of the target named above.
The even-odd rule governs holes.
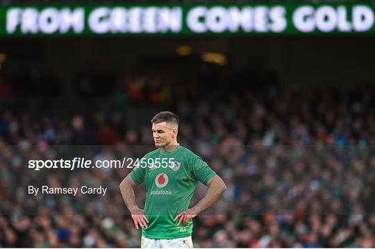
[[[144,156],[144,161],[147,160],[151,163],[147,167],[142,167],[146,165],[143,163],[131,171],[133,181],[138,185],[144,182],[146,187],[144,213],[149,227],[142,229],[142,235],[148,239],[189,237],[192,221],[186,227],[181,224],[178,227],[179,219],[174,221],[174,218],[189,208],[197,182],[206,184],[215,171],[201,157],[179,144],[168,153],[158,148]]]

